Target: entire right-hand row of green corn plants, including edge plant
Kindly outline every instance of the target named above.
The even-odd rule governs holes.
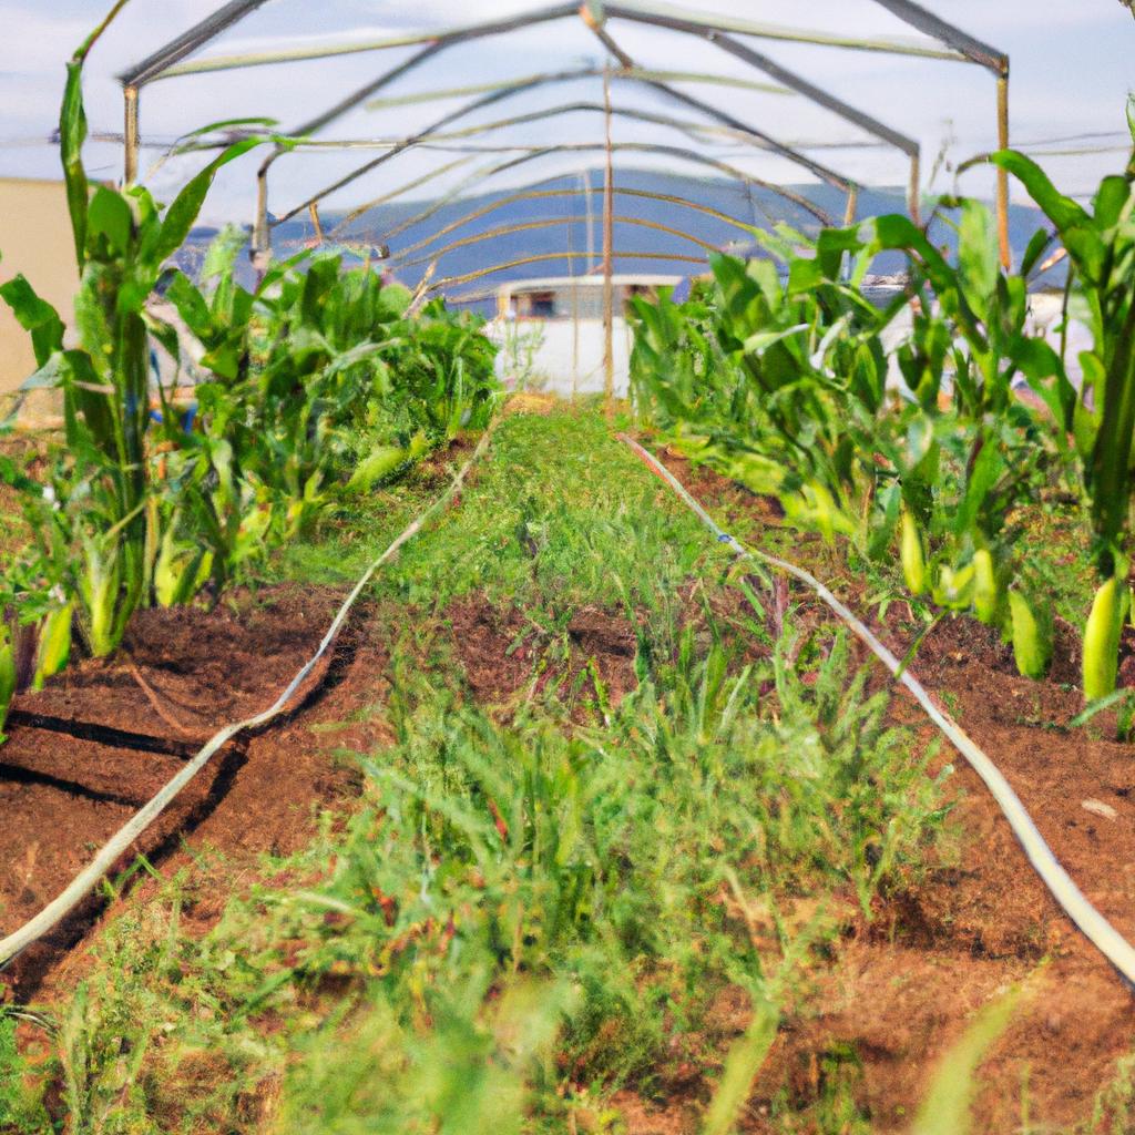
[[[991,160],[1053,226],[1017,271],[1000,266],[993,219],[972,200],[934,213],[956,230],[955,254],[905,216],[815,239],[758,233],[765,257],[714,258],[687,302],[634,302],[632,381],[687,455],[777,497],[793,526],[846,538],[860,563],[899,561],[911,596],[999,628],[1028,676],[1048,669],[1052,624],[1019,553],[1023,510],[1045,488],[1070,488],[1094,538],[1083,664],[1094,701],[1115,689],[1130,609],[1135,159],[1091,209],[1020,153]],[[875,304],[864,279],[882,253],[905,258],[908,283]],[[1029,319],[1031,284],[1058,259],[1059,348]],[[885,350],[906,312],[909,329]],[[1092,336],[1078,388],[1073,320]]]

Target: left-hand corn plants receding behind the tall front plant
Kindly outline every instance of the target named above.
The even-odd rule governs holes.
[[[294,535],[461,427],[485,424],[494,352],[476,320],[440,304],[410,319],[405,288],[344,272],[337,255],[302,271],[284,262],[249,293],[234,280],[241,243],[225,237],[210,252],[204,289],[180,272],[166,287],[209,372],[196,392],[202,431],[179,448],[212,469],[210,482],[233,478],[236,530],[268,507]],[[215,507],[205,518],[218,565],[234,557],[219,538],[226,516]]]

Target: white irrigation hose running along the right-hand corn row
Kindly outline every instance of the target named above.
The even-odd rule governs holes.
[[[940,709],[926,692],[925,688],[908,670],[902,669],[899,659],[872,633],[871,629],[860,622],[832,592],[814,575],[797,568],[794,564],[767,552],[750,550],[739,540],[725,532],[708,512],[686,490],[684,486],[665,468],[649,451],[642,448],[633,438],[625,434],[619,435],[646,465],[678,494],[687,507],[695,512],[701,522],[716,535],[720,544],[728,544],[738,555],[749,560],[758,560],[776,568],[779,571],[800,580],[810,587],[819,597],[851,628],[871,651],[899,681],[914,695],[915,700],[926,712],[926,716],[945,734],[950,743],[969,762],[974,772],[985,782],[997,806],[1009,821],[1014,835],[1020,841],[1028,856],[1033,869],[1041,876],[1044,885],[1052,892],[1065,914],[1079,927],[1084,935],[1111,962],[1116,969],[1135,985],[1135,948],[1088,902],[1084,892],[1073,882],[1071,876],[1060,865],[1052,849],[1044,842],[1044,836],[1036,829],[1032,816],[1025,810],[1020,798],[1001,774],[997,765],[977,747],[962,731],[956,721]]]

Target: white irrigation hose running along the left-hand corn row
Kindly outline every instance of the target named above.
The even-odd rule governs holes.
[[[498,420],[498,419],[497,419]],[[421,528],[429,521],[429,519],[442,508],[448,504],[453,498],[454,494],[461,488],[465,480],[465,474],[473,466],[473,464],[480,459],[485,449],[488,446],[489,437],[493,435],[493,430],[496,427],[496,420],[493,424],[485,431],[477,448],[471,454],[469,461],[462,465],[461,471],[454,477],[449,487],[442,494],[437,501],[434,502],[421,515],[418,516],[413,523],[405,528],[401,536],[363,572],[362,578],[355,583],[354,589],[351,594],[343,600],[343,605],[338,609],[335,620],[328,628],[327,633],[323,636],[323,640],[319,644],[319,649],[312,655],[312,657],[304,663],[303,667],[299,671],[295,678],[288,682],[287,688],[283,693],[261,713],[258,713],[253,717],[247,717],[244,721],[235,722],[232,725],[226,725],[224,729],[219,730],[217,733],[210,738],[209,742],[203,749],[171,780],[169,783],[161,789],[160,792],[152,800],[149,801],[128,823],[120,827],[111,838],[110,841],[99,851],[99,854],[91,860],[91,863],[75,876],[70,885],[52,902],[49,902],[31,922],[25,923],[19,930],[9,934],[5,939],[0,939],[0,968],[3,968],[15,958],[18,953],[25,950],[36,940],[41,939],[48,931],[57,926],[64,918],[70,914],[79,902],[83,901],[99,885],[99,881],[103,875],[107,874],[115,865],[116,860],[123,852],[125,852],[129,846],[166,810],[167,807],[173,802],[174,798],[185,788],[190,781],[209,763],[209,758],[217,753],[217,750],[225,745],[227,741],[236,737],[237,733],[243,732],[246,729],[255,729],[259,725],[267,724],[274,717],[278,716],[288,704],[291,698],[294,696],[297,689],[303,684],[304,679],[312,672],[316,664],[320,658],[327,653],[331,644],[335,641],[338,632],[343,629],[343,623],[346,621],[351,608],[354,606],[355,600],[362,594],[363,588],[370,582],[371,577],[379,568],[382,566],[407,540],[412,539]]]

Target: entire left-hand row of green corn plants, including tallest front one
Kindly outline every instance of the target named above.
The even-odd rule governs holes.
[[[61,392],[65,440],[36,478],[0,463],[32,532],[0,579],[0,728],[14,691],[65,666],[75,634],[103,656],[138,607],[215,600],[274,545],[484,424],[495,397],[478,320],[440,301],[412,312],[369,266],[304,253],[247,291],[234,230],[197,281],[173,267],[217,170],[262,140],[225,150],[165,210],[143,187],[92,187],[89,47],[60,126],[73,330],[23,276],[0,285],[34,346],[25,389]]]

